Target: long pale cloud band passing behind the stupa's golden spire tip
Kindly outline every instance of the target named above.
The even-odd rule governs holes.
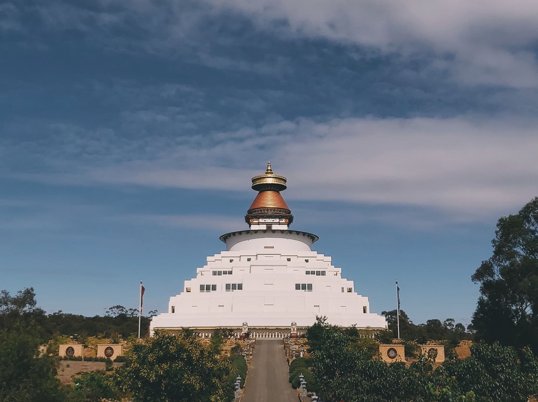
[[[249,191],[250,176],[272,159],[289,178],[289,199],[423,206],[466,220],[516,209],[538,188],[535,121],[299,119],[204,137],[132,141],[108,131],[98,140],[63,130],[65,142],[58,137],[53,159],[36,144],[15,146],[19,154],[41,158],[49,171],[9,176]],[[94,142],[101,147],[93,149]]]

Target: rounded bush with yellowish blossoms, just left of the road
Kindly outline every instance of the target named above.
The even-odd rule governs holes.
[[[228,402],[230,364],[194,336],[158,333],[133,345],[115,370],[118,384],[134,402]]]

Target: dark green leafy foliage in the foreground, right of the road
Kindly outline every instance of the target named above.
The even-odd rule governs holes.
[[[538,358],[529,348],[477,343],[471,357],[433,368],[418,362],[387,364],[351,347],[335,327],[322,332],[313,373],[324,401],[336,402],[526,402],[538,392]]]

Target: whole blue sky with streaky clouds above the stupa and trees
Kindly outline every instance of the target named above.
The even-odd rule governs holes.
[[[0,289],[47,312],[165,311],[271,159],[372,311],[468,324],[538,195],[534,1],[8,1],[0,52]]]

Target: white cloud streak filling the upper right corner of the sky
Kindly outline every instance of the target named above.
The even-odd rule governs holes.
[[[266,30],[435,54],[432,67],[464,84],[538,87],[538,3],[534,0],[210,0]],[[286,21],[286,24],[282,24]],[[534,47],[534,50],[533,50]]]

